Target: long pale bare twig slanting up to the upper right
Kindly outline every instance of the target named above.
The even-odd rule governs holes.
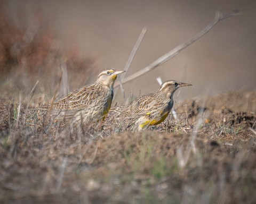
[[[148,66],[146,66],[142,70],[140,70],[140,71],[138,71],[134,74],[131,74],[129,77],[125,78],[122,81],[122,83],[124,84],[124,83],[130,82],[130,81],[133,81],[134,79],[137,79],[137,78],[141,77],[143,74],[146,74],[147,72],[149,72],[151,70],[154,70],[156,67],[158,67],[159,65],[161,65],[161,64],[165,63],[166,61],[170,60],[172,57],[174,57],[175,55],[180,53],[181,50],[183,50],[186,47],[188,47],[189,45],[193,44],[196,40],[198,40],[203,35],[205,35],[207,32],[209,32],[215,24],[217,24],[218,22],[220,22],[224,19],[227,19],[231,16],[236,16],[236,15],[242,15],[242,14],[239,13],[238,10],[229,12],[229,13],[224,14],[224,15],[222,15],[220,12],[216,12],[214,20],[209,25],[207,25],[205,27],[205,29],[203,29],[201,32],[197,33],[197,35],[195,35],[193,38],[189,39],[185,43],[175,47],[169,53],[166,53],[162,57],[158,58],[156,61],[149,64]],[[119,86],[118,82],[115,84],[114,87],[117,87],[117,86]]]

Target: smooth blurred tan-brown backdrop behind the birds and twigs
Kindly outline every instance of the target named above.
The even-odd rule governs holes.
[[[183,88],[181,98],[256,88],[256,1],[13,0],[7,3],[15,22],[19,24],[19,11],[23,11],[22,16],[31,27],[39,8],[42,18],[50,19],[57,31],[60,45],[64,48],[76,45],[82,57],[95,60],[99,70],[110,67],[122,70],[142,28],[146,27],[146,35],[126,76],[203,30],[216,11],[238,9],[245,15],[219,22],[170,61],[125,84],[124,88],[126,95],[131,90],[137,96],[140,91],[141,94],[156,91],[158,76],[163,81],[174,79],[193,84]],[[98,71],[93,81],[97,74]]]

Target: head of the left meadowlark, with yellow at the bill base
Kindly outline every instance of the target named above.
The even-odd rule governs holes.
[[[118,74],[122,74],[125,71],[116,71],[115,69],[102,71],[97,79],[97,82],[103,83],[106,86],[113,86]]]

